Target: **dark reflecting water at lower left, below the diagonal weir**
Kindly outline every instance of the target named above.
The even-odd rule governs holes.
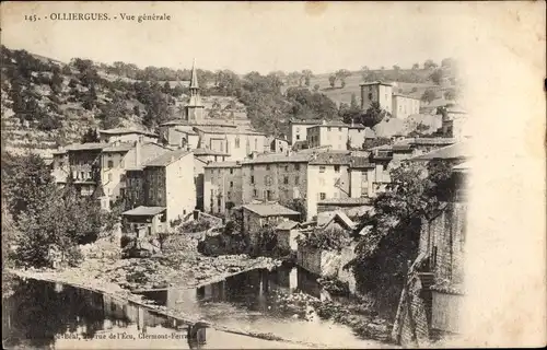
[[[214,329],[194,331],[188,324],[100,293],[36,280],[20,281],[2,301],[2,340],[7,348],[55,349],[211,349],[283,348]],[[203,339],[206,337],[206,339]],[[93,340],[93,346],[85,341]],[[82,343],[83,341],[83,343]]]

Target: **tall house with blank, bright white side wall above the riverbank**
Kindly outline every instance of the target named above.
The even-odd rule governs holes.
[[[194,186],[194,154],[186,150],[174,150],[147,162],[142,170],[128,170],[126,192],[131,205],[150,218],[159,215],[164,208],[166,222],[181,219],[196,208]],[[130,212],[130,211],[129,211]],[[135,215],[125,214],[131,223]]]

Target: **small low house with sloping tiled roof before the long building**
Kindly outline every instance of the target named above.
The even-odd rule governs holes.
[[[266,226],[275,229],[288,220],[299,220],[300,212],[277,202],[248,203],[243,209],[243,232],[249,235],[251,244],[257,243],[258,234]]]

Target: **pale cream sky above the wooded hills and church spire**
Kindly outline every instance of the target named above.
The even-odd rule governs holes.
[[[2,44],[61,61],[80,57],[142,68],[188,68],[194,58],[199,68],[237,73],[410,68],[457,57],[465,48],[461,34],[473,28],[473,11],[465,3],[432,2],[8,2]],[[45,19],[69,12],[118,19]],[[171,21],[123,21],[120,13],[165,13]],[[25,21],[24,14],[42,20]]]

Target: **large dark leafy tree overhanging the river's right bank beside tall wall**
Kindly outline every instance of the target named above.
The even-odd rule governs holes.
[[[403,164],[391,172],[392,183],[360,219],[358,231],[370,230],[357,245],[350,264],[361,290],[397,305],[407,276],[407,261],[418,254],[422,220],[444,210],[453,195],[451,165],[444,161]],[[396,306],[391,310],[395,312]]]

